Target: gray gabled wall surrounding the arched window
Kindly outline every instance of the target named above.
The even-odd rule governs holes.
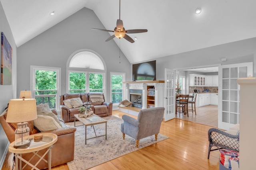
[[[61,93],[66,93],[66,63],[72,53],[80,49],[91,49],[98,53],[107,66],[106,100],[110,95],[110,72],[125,72],[130,77],[130,63],[113,40],[105,42],[110,34],[91,28],[104,28],[94,12],[82,8],[34,39],[18,47],[17,66],[19,84],[17,91],[30,89],[30,65],[61,68]]]

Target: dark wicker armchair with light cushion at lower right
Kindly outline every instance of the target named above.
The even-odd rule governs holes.
[[[228,130],[229,131],[229,130]],[[228,149],[239,152],[239,130],[233,131],[233,134],[227,133],[228,131],[221,131],[220,129],[211,128],[208,130],[208,159],[210,152],[213,150]],[[234,135],[236,133],[236,135]],[[212,147],[217,147],[212,149]]]

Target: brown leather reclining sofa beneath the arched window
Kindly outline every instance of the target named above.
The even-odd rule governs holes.
[[[112,115],[112,103],[111,102],[106,102],[104,98],[104,102],[91,102],[90,101],[90,93],[70,93],[70,94],[63,94],[60,95],[60,109],[61,109],[61,116],[64,122],[70,122],[74,121],[74,115],[79,114],[79,107],[78,108],[68,108],[64,105],[64,100],[72,99],[72,98],[81,98],[83,104],[86,104],[86,102],[90,102],[92,111],[94,114],[104,117],[108,115]]]

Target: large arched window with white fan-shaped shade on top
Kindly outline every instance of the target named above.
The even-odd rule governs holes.
[[[106,64],[98,53],[88,49],[74,52],[67,70],[68,93],[103,92],[106,98]]]

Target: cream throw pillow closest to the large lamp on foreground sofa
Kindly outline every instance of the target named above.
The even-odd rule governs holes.
[[[37,115],[34,126],[41,132],[61,128],[60,125],[50,116]]]

